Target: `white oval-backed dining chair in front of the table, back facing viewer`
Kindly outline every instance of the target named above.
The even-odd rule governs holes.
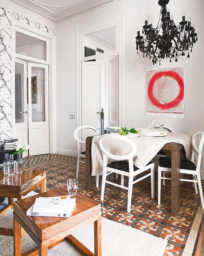
[[[117,156],[107,152],[103,146],[104,139],[118,139],[124,141],[132,146],[132,151],[128,155]],[[154,198],[154,163],[149,162],[147,166],[142,169],[138,169],[136,166],[133,165],[133,156],[136,153],[137,147],[135,143],[118,134],[104,134],[99,139],[99,145],[103,154],[103,176],[102,176],[102,186],[101,186],[101,201],[103,201],[104,191],[105,191],[105,184],[111,184],[120,188],[124,188],[128,190],[128,209],[127,212],[131,211],[131,199],[132,199],[132,190],[133,185],[149,176],[151,176],[151,197]],[[122,146],[121,146],[122,147]],[[118,148],[119,150],[119,148]],[[107,157],[117,160],[107,164]],[[128,162],[126,161],[128,160]],[[151,169],[149,174],[140,177],[139,179],[133,181],[133,178],[138,174]],[[108,172],[108,173],[107,173]],[[118,173],[121,175],[121,185],[107,181],[106,177],[111,173]],[[124,186],[124,176],[129,177],[128,187]]]

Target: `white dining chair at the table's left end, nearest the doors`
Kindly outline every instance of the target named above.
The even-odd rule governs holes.
[[[75,129],[74,139],[77,141],[77,177],[76,177],[76,179],[78,179],[78,177],[79,177],[80,163],[85,163],[84,161],[80,161],[80,159],[81,159],[81,157],[86,158],[86,151],[81,152],[81,144],[86,144],[86,141],[81,141],[77,135],[78,131],[81,129],[91,129],[91,130],[95,131],[96,135],[99,134],[98,130],[93,126],[83,125],[83,126],[78,127],[77,129]],[[96,187],[99,187],[99,176],[96,176]]]

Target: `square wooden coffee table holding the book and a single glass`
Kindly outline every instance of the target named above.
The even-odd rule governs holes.
[[[48,249],[67,240],[82,255],[101,256],[101,204],[77,193],[76,204],[69,218],[27,216],[26,212],[41,197],[67,195],[67,188],[61,187],[36,196],[14,202],[14,255],[21,256],[21,227],[38,247],[23,256],[47,256]],[[94,222],[94,254],[71,234]],[[89,239],[87,237],[87,239]]]

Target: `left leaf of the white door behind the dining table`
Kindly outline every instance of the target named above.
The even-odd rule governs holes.
[[[82,125],[95,127],[101,133],[100,114],[104,104],[104,62],[101,60],[82,62]],[[83,140],[93,135],[82,131]]]

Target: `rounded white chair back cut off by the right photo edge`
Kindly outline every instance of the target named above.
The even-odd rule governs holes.
[[[197,147],[195,141],[199,135],[201,135],[201,139],[199,142],[199,147]],[[203,131],[196,132],[192,137],[191,144],[193,148],[191,162],[194,162],[194,164],[196,165],[196,171],[200,172],[201,157],[202,157],[203,144],[204,144],[204,132]],[[198,157],[196,158],[195,155],[197,155]]]

